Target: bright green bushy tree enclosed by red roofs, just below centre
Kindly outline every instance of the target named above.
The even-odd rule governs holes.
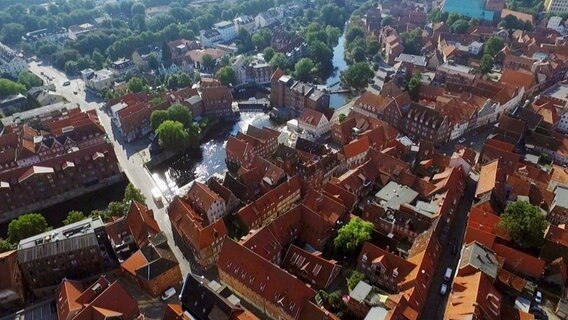
[[[339,229],[333,244],[336,249],[345,253],[358,252],[363,242],[371,239],[372,231],[372,223],[355,217]]]

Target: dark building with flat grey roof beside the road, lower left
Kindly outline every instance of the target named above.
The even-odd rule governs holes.
[[[66,278],[80,280],[116,266],[100,217],[23,239],[17,252],[22,275],[38,297],[52,294]]]

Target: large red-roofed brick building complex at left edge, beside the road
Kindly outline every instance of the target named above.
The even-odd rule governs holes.
[[[0,134],[0,221],[122,180],[95,110],[82,112],[60,104],[5,119]]]

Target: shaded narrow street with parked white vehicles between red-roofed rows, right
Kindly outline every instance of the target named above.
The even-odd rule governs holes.
[[[465,233],[465,228],[467,226],[467,217],[471,205],[473,203],[473,198],[475,195],[476,181],[468,179],[464,196],[457,210],[457,216],[455,217],[452,226],[450,227],[450,234],[448,235],[448,241],[453,241],[458,248],[458,254],[455,256],[452,254],[452,245],[447,243],[442,243],[442,252],[438,259],[438,265],[434,273],[434,278],[430,284],[430,290],[428,291],[428,296],[426,303],[424,304],[424,310],[422,312],[422,320],[436,320],[443,319],[444,310],[446,309],[446,302],[448,301],[448,296],[451,293],[452,282],[446,282],[448,285],[448,292],[446,295],[442,296],[440,294],[440,287],[444,281],[444,272],[446,268],[452,268],[452,281],[456,273],[457,265],[460,260],[460,252],[463,242],[463,235]]]

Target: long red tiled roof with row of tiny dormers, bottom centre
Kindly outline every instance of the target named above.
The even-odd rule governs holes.
[[[247,292],[241,294],[259,295],[267,303],[280,305],[281,312],[292,319],[299,318],[306,303],[316,294],[296,277],[232,239],[223,243],[217,267],[222,281],[241,283],[233,289],[246,286]]]

